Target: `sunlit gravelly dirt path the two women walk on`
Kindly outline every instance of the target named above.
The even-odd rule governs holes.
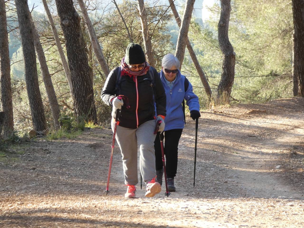
[[[125,199],[119,151],[103,190],[112,132],[15,149],[0,163],[0,227],[304,227],[304,99],[202,112],[193,188],[195,124],[179,146],[177,192]],[[116,147],[117,148],[117,147]]]

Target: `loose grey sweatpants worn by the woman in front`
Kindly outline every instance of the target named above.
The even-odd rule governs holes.
[[[137,129],[116,127],[116,141],[123,156],[123,173],[126,185],[136,185],[137,176],[137,144],[140,151],[139,167],[143,181],[147,184],[156,176],[154,135],[156,120],[149,120],[140,125]],[[114,132],[115,120],[111,122]]]

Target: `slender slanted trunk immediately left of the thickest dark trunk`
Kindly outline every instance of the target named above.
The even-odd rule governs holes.
[[[59,56],[60,56],[60,59],[61,59],[61,62],[62,62],[64,73],[65,73],[65,76],[67,77],[67,82],[68,82],[69,87],[70,87],[71,96],[72,96],[72,99],[74,100],[71,72],[70,72],[69,66],[67,64],[67,60],[65,58],[65,55],[64,55],[61,43],[60,43],[60,39],[59,39],[57,30],[56,30],[56,27],[55,27],[55,23],[54,23],[52,15],[51,15],[50,9],[47,6],[47,1],[42,0],[42,3],[43,3],[43,6],[44,6],[44,9],[45,9],[45,12],[47,13],[47,18],[49,19],[49,22],[50,22],[50,26],[51,26],[53,36],[54,36],[54,39],[55,39],[55,43],[56,43],[56,46],[57,46],[57,49],[58,49],[58,52],[59,52]]]

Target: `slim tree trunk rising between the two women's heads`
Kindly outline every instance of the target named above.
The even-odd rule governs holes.
[[[143,0],[137,0],[137,5],[139,8],[141,30],[143,33],[143,45],[145,46],[145,52],[148,57],[149,64],[151,66],[155,67],[155,61],[154,61],[153,53],[152,53],[151,37],[149,34],[147,14],[146,14],[146,9],[145,9]]]

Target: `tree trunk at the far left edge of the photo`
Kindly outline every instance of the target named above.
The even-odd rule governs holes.
[[[14,118],[11,88],[11,68],[9,62],[9,39],[6,28],[5,0],[0,0],[0,21],[1,102],[4,112],[3,133],[4,136],[8,136],[14,130]]]

